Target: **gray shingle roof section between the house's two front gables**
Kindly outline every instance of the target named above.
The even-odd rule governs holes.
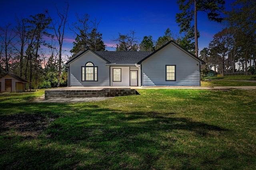
[[[136,64],[152,52],[148,51],[94,51],[110,63]]]

